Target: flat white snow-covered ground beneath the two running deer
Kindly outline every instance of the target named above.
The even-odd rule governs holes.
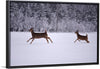
[[[26,42],[29,32],[11,32],[11,66],[73,64],[97,62],[97,33],[88,33],[90,43],[77,41],[75,33],[48,33],[53,43],[43,38]]]

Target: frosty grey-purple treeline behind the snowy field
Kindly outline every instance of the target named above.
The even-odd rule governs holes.
[[[10,31],[95,32],[97,5],[10,2]]]

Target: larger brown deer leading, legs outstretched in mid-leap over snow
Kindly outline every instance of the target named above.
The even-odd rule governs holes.
[[[33,42],[34,39],[39,39],[39,38],[45,38],[47,40],[47,43],[49,43],[49,41],[48,41],[48,39],[49,39],[51,41],[51,43],[53,43],[53,41],[50,39],[50,37],[48,37],[48,34],[47,34],[47,31],[46,30],[45,30],[44,33],[35,33],[33,31],[33,28],[31,28],[29,31],[32,34],[32,37],[29,39],[29,40],[32,39],[32,41],[31,41],[30,44],[32,44],[32,42]],[[29,42],[29,40],[27,40],[27,42]]]

